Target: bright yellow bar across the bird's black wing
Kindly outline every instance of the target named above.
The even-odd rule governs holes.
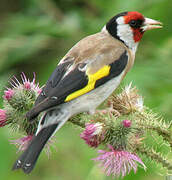
[[[65,102],[71,101],[72,99],[75,99],[76,97],[81,96],[81,95],[93,90],[95,87],[96,81],[109,75],[109,73],[110,73],[110,66],[106,65],[106,66],[103,66],[101,69],[99,69],[94,74],[87,74],[88,75],[88,84],[84,88],[69,94],[66,97]]]

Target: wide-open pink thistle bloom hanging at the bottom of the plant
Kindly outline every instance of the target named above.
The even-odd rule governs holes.
[[[132,169],[136,173],[138,163],[146,169],[146,166],[137,155],[127,151],[115,150],[111,145],[109,145],[109,149],[111,151],[99,150],[100,155],[93,159],[100,162],[100,166],[103,167],[107,176],[124,177]]]

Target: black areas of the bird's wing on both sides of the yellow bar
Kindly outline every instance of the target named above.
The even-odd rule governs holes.
[[[121,74],[127,62],[128,56],[125,51],[118,60],[109,65],[109,74],[97,80],[94,89]],[[78,66],[65,77],[63,75],[66,69],[63,70],[63,68],[66,66],[57,67],[44,87],[43,92],[38,96],[35,106],[26,114],[29,120],[34,119],[40,112],[46,109],[64,103],[68,95],[84,88],[88,84],[88,76],[84,71],[79,70]]]

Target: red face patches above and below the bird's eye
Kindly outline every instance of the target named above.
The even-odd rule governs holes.
[[[127,15],[124,16],[124,21],[125,21],[125,24],[129,24],[131,20],[141,20],[141,21],[144,21],[144,16],[137,12],[137,11],[132,11],[132,12],[128,12]],[[142,36],[143,36],[143,31],[141,30],[140,27],[138,28],[132,28],[132,31],[133,31],[133,39],[135,42],[138,42],[141,40]]]

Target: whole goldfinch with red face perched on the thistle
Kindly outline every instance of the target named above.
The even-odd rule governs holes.
[[[161,27],[159,21],[126,11],[112,17],[100,32],[76,43],[27,112],[30,123],[40,113],[42,116],[32,141],[12,170],[22,169],[29,174],[47,141],[68,119],[82,112],[94,114],[133,66],[144,32]]]

